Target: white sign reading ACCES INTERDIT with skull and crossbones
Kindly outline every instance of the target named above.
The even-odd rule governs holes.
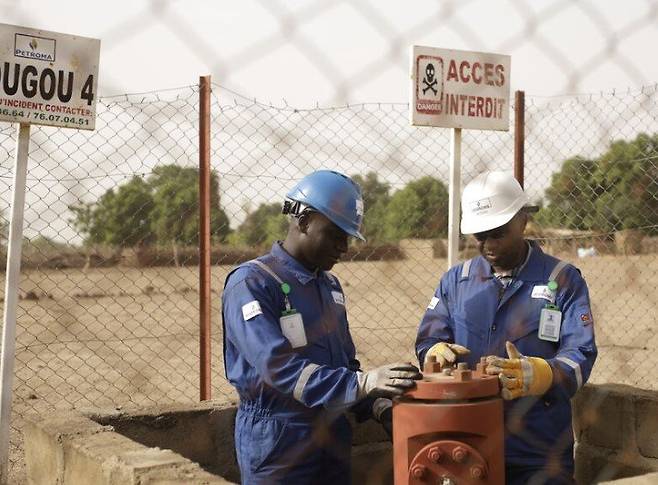
[[[411,47],[412,125],[509,130],[511,57]]]

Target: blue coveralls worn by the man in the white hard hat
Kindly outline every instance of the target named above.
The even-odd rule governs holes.
[[[541,287],[550,279],[558,283],[553,296],[562,312],[558,342],[538,337],[540,312],[551,297]],[[573,473],[569,399],[587,381],[596,360],[593,327],[580,271],[531,243],[525,266],[507,289],[482,256],[445,273],[420,323],[416,354],[423,362],[437,342],[457,343],[470,349],[464,360],[474,366],[482,356],[507,357],[509,340],[523,355],[546,359],[554,376],[546,394],[505,402],[507,483],[528,483],[533,473],[549,465],[568,477]],[[541,483],[569,482],[562,480]]]

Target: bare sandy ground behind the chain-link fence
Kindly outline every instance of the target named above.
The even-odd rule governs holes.
[[[413,360],[416,328],[446,261],[429,243],[394,262],[341,263],[351,331],[365,368]],[[567,255],[563,259],[572,260]],[[592,298],[599,358],[590,382],[658,389],[658,256],[575,260]],[[212,269],[212,397],[223,379],[220,296]],[[21,280],[10,470],[23,477],[22,417],[54,408],[194,401],[198,385],[196,268],[32,271]]]

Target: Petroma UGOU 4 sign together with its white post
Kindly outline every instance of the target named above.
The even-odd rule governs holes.
[[[0,356],[0,483],[9,482],[16,308],[30,125],[93,130],[100,41],[0,24],[0,121],[18,123]]]

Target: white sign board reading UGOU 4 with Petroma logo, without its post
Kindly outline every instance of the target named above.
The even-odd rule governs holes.
[[[100,45],[0,24],[0,121],[93,130]]]

